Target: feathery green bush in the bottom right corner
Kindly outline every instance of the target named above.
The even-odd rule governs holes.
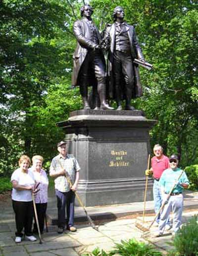
[[[175,251],[169,256],[198,256],[198,216],[185,223],[174,238]]]

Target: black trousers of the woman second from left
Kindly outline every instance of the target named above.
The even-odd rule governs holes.
[[[48,206],[48,203],[36,203],[37,216],[38,216],[38,221],[39,221],[39,229],[40,229],[41,233],[43,233],[43,231],[44,231],[47,206]],[[33,230],[33,232],[38,233],[35,214],[34,214],[34,230]]]

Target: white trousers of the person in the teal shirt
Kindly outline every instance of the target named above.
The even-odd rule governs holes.
[[[163,195],[163,201],[166,200],[167,194]],[[163,203],[162,201],[162,203]],[[165,204],[159,220],[158,230],[159,233],[164,232],[164,228],[166,226],[167,219],[169,218],[170,212],[173,213],[173,232],[177,232],[182,223],[182,211],[183,211],[183,194],[171,195],[168,203]]]

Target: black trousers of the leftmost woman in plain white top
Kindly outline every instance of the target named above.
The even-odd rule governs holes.
[[[12,200],[12,207],[15,213],[16,237],[23,237],[22,230],[26,236],[32,235],[33,202]]]

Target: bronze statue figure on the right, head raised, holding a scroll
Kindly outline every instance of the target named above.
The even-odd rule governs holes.
[[[145,63],[138,44],[135,28],[124,21],[124,10],[117,6],[113,12],[114,23],[106,28],[103,41],[108,49],[109,97],[122,110],[121,100],[126,100],[125,109],[134,110],[131,99],[142,96],[138,65],[134,59]]]

